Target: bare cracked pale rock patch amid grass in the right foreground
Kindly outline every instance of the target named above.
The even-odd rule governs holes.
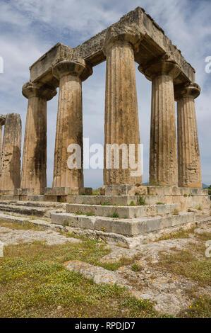
[[[200,287],[198,283],[183,276],[176,276],[169,271],[161,271],[156,266],[159,253],[174,254],[177,250],[187,249],[191,244],[197,244],[195,234],[210,232],[210,225],[200,225],[188,238],[167,239],[143,244],[140,250],[126,249],[107,245],[111,253],[101,261],[112,263],[122,258],[134,259],[140,266],[140,271],[132,271],[131,265],[121,266],[116,271],[108,271],[102,267],[92,266],[82,261],[68,261],[66,268],[77,271],[87,278],[93,278],[95,283],[117,283],[128,288],[131,295],[137,299],[155,301],[155,310],[176,315],[182,308],[191,305],[187,290],[195,290],[198,295],[211,294],[211,287]]]

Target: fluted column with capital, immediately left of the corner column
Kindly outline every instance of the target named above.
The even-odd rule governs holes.
[[[84,60],[61,61],[53,67],[59,79],[53,187],[83,188],[83,111],[81,82],[92,74]],[[68,169],[68,146],[80,146],[81,167]]]

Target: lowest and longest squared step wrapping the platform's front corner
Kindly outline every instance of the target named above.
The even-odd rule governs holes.
[[[144,235],[164,228],[175,227],[195,221],[194,213],[169,214],[154,218],[114,219],[100,216],[75,215],[72,213],[52,213],[52,223],[80,229],[112,232],[126,237]]]

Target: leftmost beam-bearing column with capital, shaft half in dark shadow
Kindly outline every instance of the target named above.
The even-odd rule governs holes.
[[[21,188],[44,193],[47,167],[47,101],[56,95],[51,86],[28,82],[22,89],[28,98],[25,123]]]

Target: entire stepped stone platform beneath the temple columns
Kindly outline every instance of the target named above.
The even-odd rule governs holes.
[[[113,185],[103,186],[99,196],[62,191],[60,202],[58,196],[54,198],[57,192],[49,196],[49,189],[40,196],[31,191],[23,196],[19,190],[13,195],[1,193],[1,218],[7,214],[18,214],[23,220],[42,218],[53,228],[136,247],[147,239],[192,227],[197,223],[195,213],[210,208],[207,190],[198,188]]]

